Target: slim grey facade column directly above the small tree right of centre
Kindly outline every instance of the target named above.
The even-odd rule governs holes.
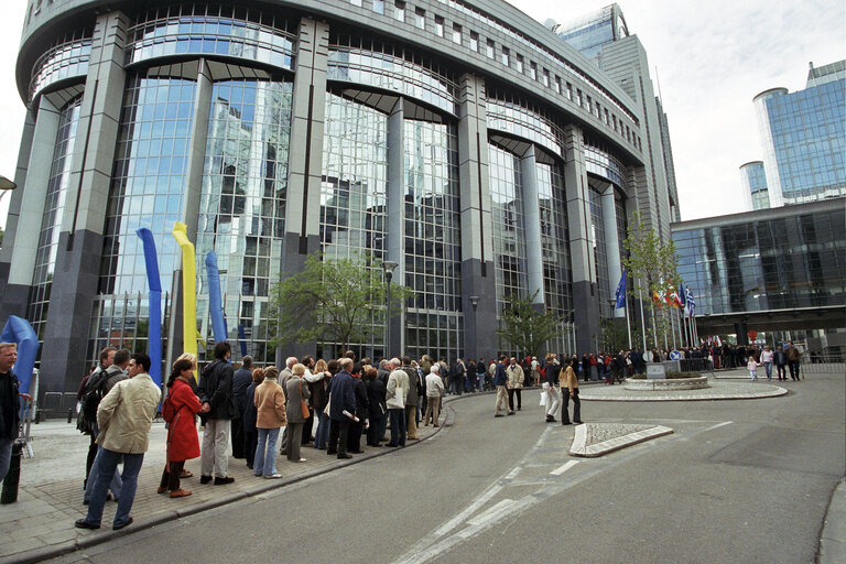
[[[520,176],[523,180],[523,217],[525,218],[525,253],[529,295],[538,292],[532,306],[545,310],[543,292],[543,252],[541,248],[541,203],[538,196],[538,166],[534,145],[520,158]]]

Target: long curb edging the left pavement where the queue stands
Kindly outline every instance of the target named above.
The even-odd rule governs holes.
[[[433,432],[431,435],[424,438],[421,438],[420,441],[416,441],[414,443],[406,444],[403,447],[403,449],[415,447],[425,441],[435,438],[443,429],[451,427],[455,423],[455,410],[453,410],[452,408],[447,408],[448,403],[452,403],[465,397],[468,397],[468,398],[475,397],[480,393],[491,393],[491,392],[477,392],[475,394],[453,395],[448,399],[445,398],[443,402],[443,405],[444,405],[443,412],[445,416],[444,416],[444,422],[441,424],[441,426],[433,429]],[[297,484],[303,480],[307,480],[311,478],[315,478],[317,476],[322,476],[324,474],[328,474],[339,468],[346,468],[347,466],[360,464],[365,460],[370,460],[379,456],[389,456],[400,451],[401,451],[400,448],[390,448],[390,449],[386,448],[382,451],[368,453],[364,456],[356,456],[355,458],[351,458],[349,460],[338,462],[333,466],[326,466],[315,470],[310,470],[310,471],[306,471],[296,476],[291,476],[289,478],[284,478],[281,480],[271,480],[270,484],[265,486],[257,486],[254,489],[249,491],[239,491],[237,494],[221,496],[220,498],[216,498],[214,500],[203,501],[200,503],[197,503],[196,506],[185,508],[184,510],[175,510],[170,512],[163,511],[149,518],[140,518],[140,519],[135,518],[131,528],[127,528],[120,531],[112,531],[110,529],[107,529],[105,531],[93,532],[91,534],[88,534],[82,539],[75,539],[74,541],[70,541],[66,544],[59,544],[55,546],[45,546],[41,549],[32,549],[18,554],[13,554],[9,556],[9,560],[4,560],[3,562],[9,564],[31,564],[34,562],[41,562],[48,558],[55,558],[56,556],[63,556],[65,554],[70,554],[73,552],[96,546],[98,544],[104,544],[108,541],[111,541],[112,539],[118,539],[120,536],[133,534],[135,532],[143,531],[147,529],[152,529],[153,527],[167,523],[170,521],[175,521],[176,519],[194,516],[203,511],[208,511],[209,509],[216,509],[218,507],[226,506],[229,503],[235,503],[236,501],[240,501],[242,499],[247,499],[250,497],[260,496],[262,494],[267,494],[275,489],[284,488],[285,486],[291,486],[292,484]]]

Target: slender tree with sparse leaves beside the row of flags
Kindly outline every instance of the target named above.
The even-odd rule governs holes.
[[[659,337],[666,334],[668,328],[663,318],[655,321],[655,310],[665,305],[666,296],[683,282],[676,272],[679,254],[675,243],[671,240],[661,242],[658,234],[647,229],[640,214],[634,215],[633,224],[629,225],[628,237],[622,241],[627,256],[622,263],[631,275],[640,281],[640,286],[647,295],[640,296],[652,317],[652,346],[659,346]],[[634,292],[629,292],[638,297]],[[660,325],[660,327],[659,327]]]

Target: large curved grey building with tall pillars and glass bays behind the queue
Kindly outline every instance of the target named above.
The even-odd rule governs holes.
[[[498,317],[535,291],[567,319],[550,347],[592,350],[627,217],[658,206],[669,232],[653,98],[621,72],[500,0],[30,0],[0,316],[36,328],[43,391],[76,389],[102,346],[144,350],[147,227],[181,352],[183,221],[209,347],[209,251],[229,340],[260,362],[281,354],[270,288],[323,251],[397,262],[414,291],[373,308],[362,356],[509,351]]]

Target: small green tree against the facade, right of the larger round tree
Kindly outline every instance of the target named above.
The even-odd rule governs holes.
[[[502,312],[502,324],[497,329],[505,340],[513,345],[522,354],[538,356],[544,343],[566,335],[564,319],[567,314],[558,314],[546,310],[539,312],[532,306],[540,290],[529,297],[508,297],[508,306]]]

